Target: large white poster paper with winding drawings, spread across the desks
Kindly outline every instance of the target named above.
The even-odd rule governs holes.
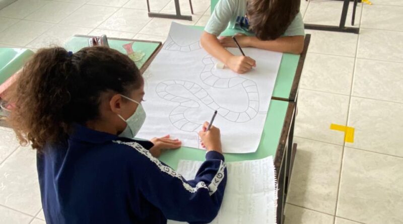
[[[171,134],[201,148],[197,132],[218,111],[223,152],[255,152],[260,142],[282,53],[244,48],[256,60],[246,74],[215,68],[199,43],[203,31],[172,23],[169,36],[145,72],[146,121],[137,137]],[[238,48],[229,48],[240,55]]]

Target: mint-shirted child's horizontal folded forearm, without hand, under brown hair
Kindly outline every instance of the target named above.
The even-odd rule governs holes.
[[[293,54],[300,54],[304,49],[304,36],[279,37],[276,40],[249,38],[248,45],[250,47]]]

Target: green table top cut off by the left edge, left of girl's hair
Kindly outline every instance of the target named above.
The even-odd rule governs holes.
[[[22,48],[0,48],[0,85],[27,62],[34,52]]]

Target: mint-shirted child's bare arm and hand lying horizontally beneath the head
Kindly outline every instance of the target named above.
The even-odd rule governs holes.
[[[259,40],[254,36],[237,35],[241,47],[255,47],[284,53],[300,54],[304,49],[304,36],[279,37],[276,40]],[[232,37],[220,37],[223,47],[236,47]]]

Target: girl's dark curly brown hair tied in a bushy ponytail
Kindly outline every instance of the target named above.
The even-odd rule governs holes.
[[[14,107],[9,122],[22,145],[31,142],[41,151],[46,143],[65,140],[74,123],[97,119],[102,93],[128,94],[142,84],[136,64],[117,50],[40,49],[8,96]]]

